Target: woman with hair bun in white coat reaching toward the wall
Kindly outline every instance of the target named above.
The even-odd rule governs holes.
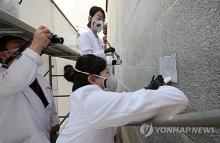
[[[57,143],[112,143],[114,127],[153,117],[172,117],[188,102],[182,91],[162,86],[158,78],[146,89],[134,92],[104,91],[111,83],[106,61],[92,54],[79,57],[75,67],[65,66],[64,77],[74,83],[74,92],[70,96],[69,120]]]

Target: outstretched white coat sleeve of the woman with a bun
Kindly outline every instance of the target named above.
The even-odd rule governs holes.
[[[88,107],[95,106],[96,111],[89,113],[90,124],[91,128],[96,129],[122,126],[157,116],[174,116],[188,102],[184,93],[172,86],[162,86],[158,90],[141,89],[131,93],[100,92],[92,98],[94,101]]]

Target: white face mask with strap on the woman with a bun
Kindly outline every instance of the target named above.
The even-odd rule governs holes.
[[[74,68],[74,70],[79,73],[83,73],[83,74],[87,74],[87,75],[90,74],[88,72],[83,72],[83,71],[77,70],[76,68]],[[117,88],[117,79],[115,78],[115,76],[110,75],[108,77],[104,77],[104,76],[100,76],[100,75],[96,75],[96,74],[93,74],[93,75],[104,79],[102,82],[102,87],[101,87],[103,90],[115,92],[115,90]]]

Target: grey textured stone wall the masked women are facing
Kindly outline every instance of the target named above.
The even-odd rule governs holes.
[[[108,38],[123,65],[116,75],[139,89],[159,73],[159,58],[176,53],[178,84],[189,98],[183,113],[220,109],[219,0],[109,0]],[[121,91],[126,91],[122,86]],[[130,143],[217,143],[213,134],[157,134],[125,128]]]

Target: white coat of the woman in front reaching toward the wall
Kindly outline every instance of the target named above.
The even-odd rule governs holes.
[[[171,86],[115,93],[88,85],[73,92],[70,101],[70,117],[57,143],[112,143],[113,127],[174,116],[186,107],[188,99]]]

